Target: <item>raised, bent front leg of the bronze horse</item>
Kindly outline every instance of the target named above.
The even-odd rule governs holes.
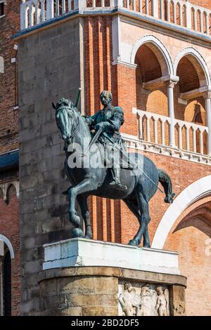
[[[83,192],[87,192],[90,190],[90,182],[91,180],[89,178],[83,180],[79,185],[76,185],[75,187],[70,187],[68,190],[68,196],[69,196],[69,216],[70,216],[70,222],[75,225],[75,227],[79,227],[80,225],[80,218],[76,214],[75,210],[75,201],[78,194],[82,194]]]

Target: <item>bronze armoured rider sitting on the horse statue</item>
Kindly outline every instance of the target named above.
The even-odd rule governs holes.
[[[120,135],[120,127],[124,123],[124,112],[122,107],[113,107],[111,105],[113,99],[112,93],[103,91],[101,93],[101,103],[103,110],[99,110],[91,117],[84,117],[89,125],[90,131],[93,129],[98,131],[101,129],[101,136],[97,143],[100,143],[103,150],[106,151],[106,161],[110,162],[110,169],[113,181],[110,183],[117,190],[127,191],[127,187],[120,183],[120,152],[117,159],[117,150],[124,150],[122,138]],[[106,164],[108,166],[108,164]]]

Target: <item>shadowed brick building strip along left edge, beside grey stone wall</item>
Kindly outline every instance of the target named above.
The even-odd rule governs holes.
[[[0,1],[0,315],[20,315],[17,45],[22,1]]]

